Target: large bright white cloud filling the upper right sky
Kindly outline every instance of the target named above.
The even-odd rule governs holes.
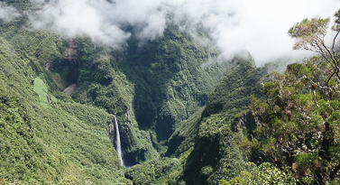
[[[179,5],[181,4],[181,5]],[[247,50],[261,65],[292,51],[287,32],[306,17],[332,16],[340,7],[337,0],[187,0],[177,2],[176,14],[186,14],[189,23],[203,23],[216,39],[222,56],[229,59]],[[303,52],[306,53],[306,52]]]

